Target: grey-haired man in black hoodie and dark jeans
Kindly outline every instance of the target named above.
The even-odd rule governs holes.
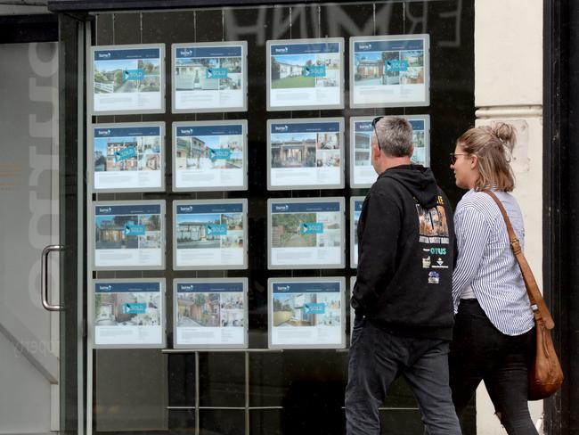
[[[429,435],[460,435],[448,386],[453,336],[453,212],[429,168],[412,165],[412,126],[372,122],[379,174],[358,221],[347,435],[378,435],[379,406],[403,376]]]

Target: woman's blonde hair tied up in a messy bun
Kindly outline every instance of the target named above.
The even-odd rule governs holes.
[[[515,128],[504,122],[470,128],[458,138],[456,144],[461,150],[478,157],[479,176],[475,190],[493,187],[498,191],[511,192],[515,188],[510,158],[516,141]]]

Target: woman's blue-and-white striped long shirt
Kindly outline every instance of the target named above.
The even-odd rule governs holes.
[[[494,192],[507,210],[524,247],[523,216],[509,193]],[[465,193],[454,213],[459,256],[453,273],[454,312],[461,297],[474,292],[493,325],[506,335],[520,335],[534,326],[534,317],[517,260],[510,250],[507,226],[493,198]],[[472,288],[472,292],[468,289]]]

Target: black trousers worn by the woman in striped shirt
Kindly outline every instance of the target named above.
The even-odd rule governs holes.
[[[537,435],[527,404],[527,369],[534,355],[534,329],[518,336],[494,327],[477,300],[461,300],[449,357],[457,414],[485,382],[501,423],[510,435]]]

